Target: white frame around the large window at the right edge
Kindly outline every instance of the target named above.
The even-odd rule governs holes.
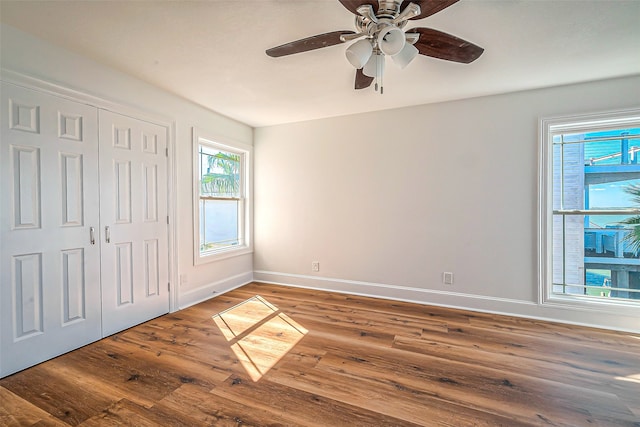
[[[581,295],[554,294],[553,289],[553,135],[559,132],[589,132],[611,127],[640,126],[640,109],[540,120],[538,156],[538,303],[613,314],[637,314],[636,300],[597,299]]]

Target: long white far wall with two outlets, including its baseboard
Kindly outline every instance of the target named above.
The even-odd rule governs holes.
[[[539,119],[639,104],[635,76],[256,129],[254,277],[640,331],[538,305],[536,243]]]

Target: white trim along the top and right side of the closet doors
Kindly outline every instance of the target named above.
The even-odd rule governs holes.
[[[128,116],[134,119],[147,121],[160,125],[167,129],[167,215],[169,216],[168,249],[169,249],[169,312],[179,309],[178,301],[178,236],[177,236],[177,206],[176,206],[176,121],[174,118],[160,114],[149,113],[144,109],[137,109],[120,102],[104,99],[77,89],[49,82],[28,74],[0,68],[0,80],[22,86],[27,89],[55,95],[71,101],[87,104],[101,110]]]

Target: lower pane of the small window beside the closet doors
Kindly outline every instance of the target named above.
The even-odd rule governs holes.
[[[200,251],[239,245],[237,200],[200,200]]]

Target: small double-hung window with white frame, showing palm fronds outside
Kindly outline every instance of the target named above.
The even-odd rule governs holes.
[[[194,129],[195,263],[250,252],[249,147]]]

